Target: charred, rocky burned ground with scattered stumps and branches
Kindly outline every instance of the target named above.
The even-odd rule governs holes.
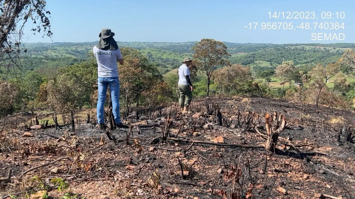
[[[213,113],[216,104],[222,126]],[[355,147],[351,138],[344,139],[355,124],[353,112],[267,98],[199,99],[192,113],[176,116],[177,110],[174,105],[128,119],[131,129],[113,130],[116,143],[95,124],[80,122],[85,119],[74,131],[70,126],[23,130],[10,128],[8,117],[0,137],[0,197],[25,198],[40,190],[50,198],[71,193],[71,198],[355,196]],[[263,144],[265,115],[274,111],[290,126],[272,153]],[[62,185],[51,182],[54,178]]]

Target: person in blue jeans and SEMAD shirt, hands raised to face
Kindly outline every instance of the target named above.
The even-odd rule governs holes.
[[[112,112],[116,127],[128,127],[121,123],[120,118],[120,81],[117,62],[123,65],[124,59],[122,58],[117,42],[113,38],[114,35],[115,33],[111,32],[111,29],[103,28],[99,33],[100,39],[98,44],[93,47],[98,69],[97,123],[105,133],[107,133],[107,131],[104,119],[104,103],[108,87],[111,91]]]

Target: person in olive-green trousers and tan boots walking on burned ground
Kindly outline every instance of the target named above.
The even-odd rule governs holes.
[[[189,66],[191,65],[192,60],[188,57],[185,57],[182,61],[182,65],[179,67],[179,103],[180,103],[180,113],[187,113],[187,110],[190,106],[192,100],[192,91],[193,86],[190,80],[190,70]]]

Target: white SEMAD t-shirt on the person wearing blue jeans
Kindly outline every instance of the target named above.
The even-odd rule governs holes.
[[[120,49],[101,50],[94,46],[93,52],[97,61],[98,77],[118,77],[117,60],[122,59]]]

